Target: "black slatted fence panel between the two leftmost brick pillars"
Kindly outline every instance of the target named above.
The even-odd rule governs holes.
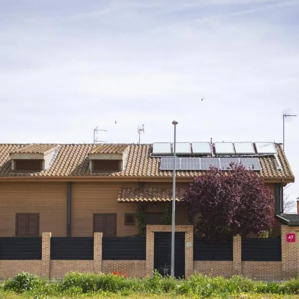
[[[93,260],[93,238],[52,237],[51,260]]]

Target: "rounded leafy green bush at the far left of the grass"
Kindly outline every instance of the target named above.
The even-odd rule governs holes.
[[[43,285],[44,282],[39,277],[22,272],[16,275],[13,279],[7,280],[4,283],[4,290],[14,291],[16,293],[23,293],[25,291],[31,291],[35,288]]]

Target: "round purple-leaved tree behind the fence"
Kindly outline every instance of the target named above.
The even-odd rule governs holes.
[[[259,175],[240,164],[230,167],[225,172],[212,167],[195,177],[181,195],[195,216],[196,233],[208,239],[259,235],[275,223],[274,197]]]

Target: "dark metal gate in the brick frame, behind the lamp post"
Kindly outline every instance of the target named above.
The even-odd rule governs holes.
[[[185,276],[185,233],[175,233],[174,275]],[[154,233],[153,268],[163,276],[170,275],[171,233]]]

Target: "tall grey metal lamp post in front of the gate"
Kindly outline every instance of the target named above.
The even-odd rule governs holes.
[[[174,235],[175,235],[175,129],[177,121],[172,121],[174,126],[174,137],[173,137],[173,171],[172,171],[172,221],[171,221],[171,264],[170,264],[170,275],[174,277]]]

